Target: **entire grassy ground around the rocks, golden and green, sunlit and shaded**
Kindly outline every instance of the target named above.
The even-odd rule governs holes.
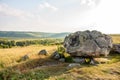
[[[120,36],[112,38],[120,43]],[[38,55],[42,49],[47,56]],[[120,54],[109,55],[109,63],[68,68],[70,63],[50,59],[56,49],[56,45],[0,49],[0,80],[120,80]],[[29,59],[18,62],[26,54]]]

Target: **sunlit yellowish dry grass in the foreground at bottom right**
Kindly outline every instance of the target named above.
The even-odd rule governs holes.
[[[120,62],[73,68],[47,80],[120,80]]]

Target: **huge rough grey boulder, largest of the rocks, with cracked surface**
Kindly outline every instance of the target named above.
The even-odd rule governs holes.
[[[112,38],[99,31],[77,31],[64,39],[64,47],[71,56],[107,56],[112,48]]]

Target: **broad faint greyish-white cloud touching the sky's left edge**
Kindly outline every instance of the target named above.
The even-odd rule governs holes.
[[[12,8],[7,4],[0,4],[0,15],[14,16],[18,18],[33,17],[34,15],[19,9]]]

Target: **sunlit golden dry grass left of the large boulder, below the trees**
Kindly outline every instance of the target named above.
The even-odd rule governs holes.
[[[48,53],[52,53],[56,50],[57,46],[40,46],[32,45],[27,47],[14,47],[8,49],[0,49],[0,64],[4,67],[13,66],[17,63],[22,56],[28,54],[30,59],[39,58],[38,52],[42,49],[46,49]]]

